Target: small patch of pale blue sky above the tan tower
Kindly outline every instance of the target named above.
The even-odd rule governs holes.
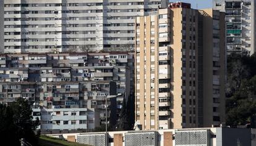
[[[170,0],[170,2],[187,2],[192,5],[192,8],[194,9],[205,9],[205,8],[211,8],[212,7],[212,0]]]

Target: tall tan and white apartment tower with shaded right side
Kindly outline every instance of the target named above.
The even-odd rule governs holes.
[[[135,121],[142,129],[224,122],[224,13],[184,6],[136,18]]]

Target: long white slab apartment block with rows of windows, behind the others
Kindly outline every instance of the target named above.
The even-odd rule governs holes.
[[[5,53],[131,51],[134,18],[168,0],[1,0]]]

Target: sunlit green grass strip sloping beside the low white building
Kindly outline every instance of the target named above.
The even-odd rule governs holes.
[[[40,136],[38,145],[39,146],[89,146],[85,144],[69,142],[66,140],[62,140],[54,137],[48,137],[48,136]]]

